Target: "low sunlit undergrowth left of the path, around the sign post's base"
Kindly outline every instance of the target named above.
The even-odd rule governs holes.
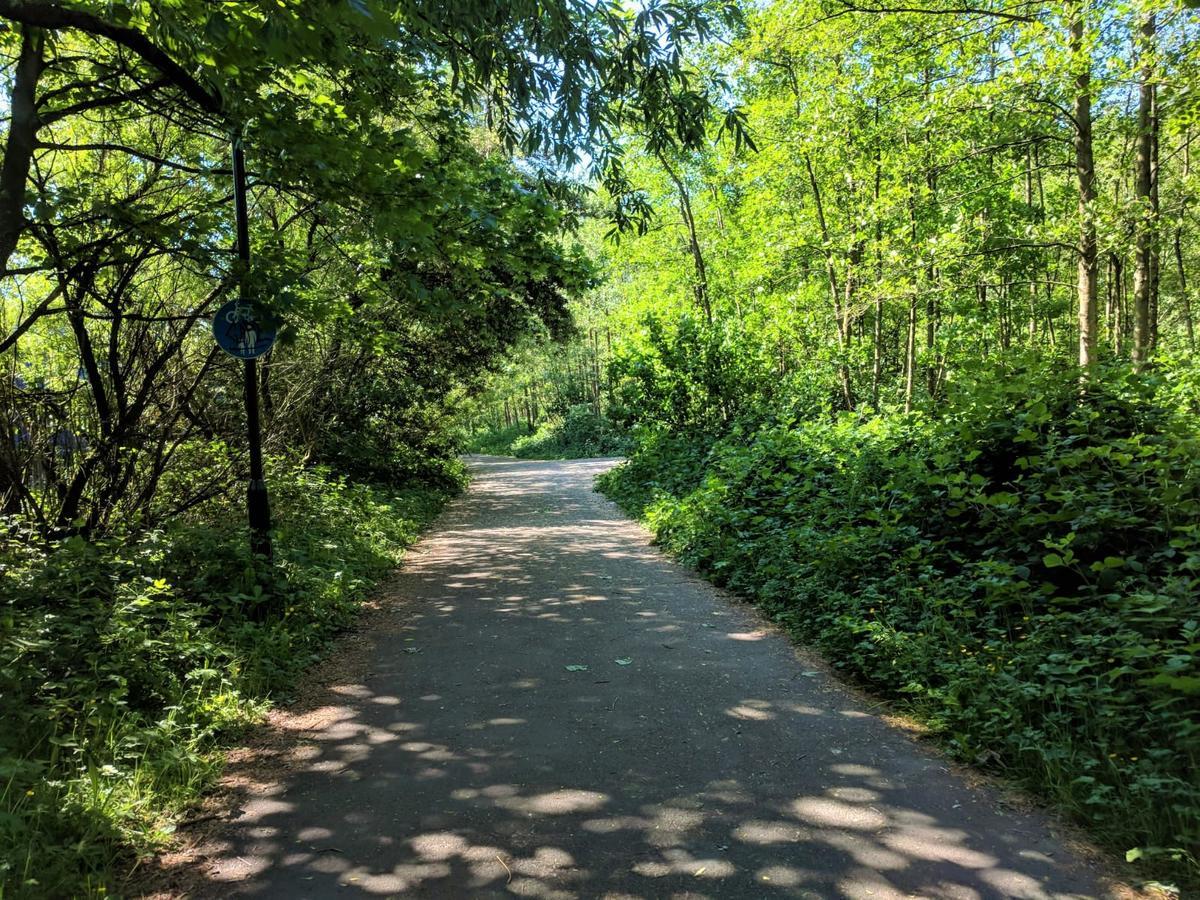
[[[240,503],[170,526],[0,542],[0,895],[102,895],[169,830],[214,752],[286,692],[400,560],[448,488],[271,475],[275,565]]]

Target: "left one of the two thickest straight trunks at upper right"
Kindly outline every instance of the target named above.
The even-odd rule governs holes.
[[[1096,368],[1096,162],[1092,154],[1092,64],[1085,47],[1085,0],[1073,0],[1070,12],[1070,52],[1075,66],[1075,176],[1079,182],[1079,366],[1084,378]]]

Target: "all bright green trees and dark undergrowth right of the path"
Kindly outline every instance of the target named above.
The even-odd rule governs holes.
[[[1172,0],[748,5],[695,55],[752,145],[629,136],[656,217],[590,245],[611,341],[488,407],[596,358],[636,437],[601,487],[665,546],[1193,882],[1198,29]]]

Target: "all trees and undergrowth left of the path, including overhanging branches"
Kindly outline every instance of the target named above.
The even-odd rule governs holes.
[[[0,0],[0,894],[112,889],[348,620],[457,486],[458,408],[570,331],[593,269],[562,172],[644,222],[618,136],[703,142],[727,97],[682,50],[734,18]],[[280,328],[250,379],[274,560],[229,524],[251,370],[209,323],[234,296]]]

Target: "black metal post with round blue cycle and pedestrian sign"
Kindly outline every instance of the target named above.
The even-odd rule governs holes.
[[[238,258],[250,263],[250,220],[246,210],[246,157],[241,136],[233,140],[233,203],[238,227]],[[258,556],[271,557],[271,504],[263,475],[263,438],[258,424],[258,358],[275,343],[275,329],[260,322],[245,286],[238,299],[217,310],[212,319],[212,337],[226,353],[244,361],[246,427],[250,437],[250,484],[246,488],[246,512],[250,520],[250,548]]]

